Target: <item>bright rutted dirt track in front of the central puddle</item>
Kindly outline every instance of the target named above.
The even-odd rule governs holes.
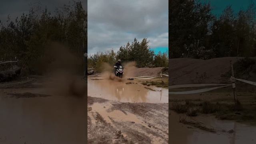
[[[168,144],[168,104],[88,97],[89,144]]]

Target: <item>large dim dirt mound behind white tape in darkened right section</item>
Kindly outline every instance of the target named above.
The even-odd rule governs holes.
[[[169,84],[230,83],[223,77],[230,70],[230,60],[234,63],[242,57],[213,58],[199,60],[193,58],[169,59]]]

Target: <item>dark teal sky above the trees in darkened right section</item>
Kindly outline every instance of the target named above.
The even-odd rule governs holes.
[[[223,10],[231,5],[232,9],[235,13],[238,13],[240,9],[247,9],[249,4],[252,2],[256,2],[256,0],[199,0],[200,2],[206,2],[211,4],[212,6],[212,14],[216,16],[220,16]]]

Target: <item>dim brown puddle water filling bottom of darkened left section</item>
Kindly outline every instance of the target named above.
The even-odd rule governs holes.
[[[0,144],[86,143],[85,98],[10,98],[10,92],[47,94],[42,88],[0,89]]]

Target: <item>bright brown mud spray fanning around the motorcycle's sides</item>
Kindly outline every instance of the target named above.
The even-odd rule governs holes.
[[[136,62],[127,62],[123,64],[124,66],[124,75],[123,78],[119,78],[115,76],[114,74],[114,68],[113,66],[110,66],[108,63],[102,64],[102,77],[105,79],[117,81],[117,82],[126,82],[128,81],[128,78],[131,78],[134,76],[136,71]]]

